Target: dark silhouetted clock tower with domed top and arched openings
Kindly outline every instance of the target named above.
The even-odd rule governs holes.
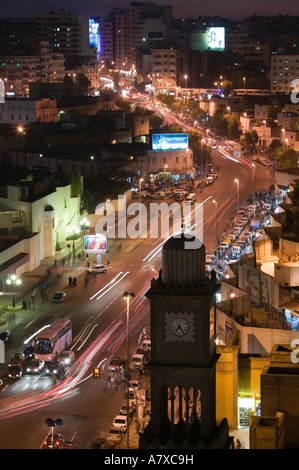
[[[227,422],[217,427],[215,416],[216,277],[214,272],[206,277],[205,260],[198,239],[173,236],[163,247],[162,270],[147,293],[151,420],[140,448],[227,446]]]

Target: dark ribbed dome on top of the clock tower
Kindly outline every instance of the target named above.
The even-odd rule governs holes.
[[[206,250],[196,238],[180,233],[162,249],[162,282],[169,287],[196,287],[205,280]]]

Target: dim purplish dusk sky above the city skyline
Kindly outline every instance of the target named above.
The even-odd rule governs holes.
[[[140,0],[142,3],[145,0]],[[242,19],[257,13],[274,16],[289,14],[299,16],[298,0],[153,0],[161,5],[173,5],[174,18],[196,18],[198,16],[221,16],[231,19]],[[112,7],[123,7],[130,0],[13,0],[1,2],[2,17],[33,18],[35,13],[47,13],[61,8],[72,13],[101,16]]]

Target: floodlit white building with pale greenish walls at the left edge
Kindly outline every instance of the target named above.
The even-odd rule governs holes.
[[[52,178],[38,181],[35,190],[41,193],[51,182]],[[55,255],[56,243],[63,244],[71,234],[68,229],[79,228],[80,197],[71,196],[70,185],[55,190],[49,186],[48,194],[42,197],[34,197],[29,186],[2,184],[0,188],[2,283],[8,274],[20,276]]]

